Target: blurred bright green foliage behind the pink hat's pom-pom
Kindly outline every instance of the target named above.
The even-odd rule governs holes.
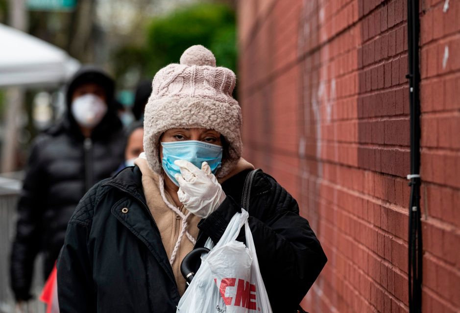
[[[148,26],[146,67],[153,75],[182,52],[203,45],[216,55],[217,65],[236,71],[235,12],[224,4],[199,3],[155,18]]]

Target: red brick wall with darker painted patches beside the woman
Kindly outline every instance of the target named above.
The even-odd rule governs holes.
[[[460,312],[460,1],[420,8],[423,312]],[[241,0],[239,45],[244,156],[329,259],[303,306],[408,312],[407,0]]]

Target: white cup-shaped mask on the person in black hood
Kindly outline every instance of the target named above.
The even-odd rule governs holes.
[[[93,94],[75,98],[71,109],[73,118],[83,127],[95,127],[107,113],[107,105]]]

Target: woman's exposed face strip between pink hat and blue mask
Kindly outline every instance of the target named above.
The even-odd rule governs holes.
[[[176,141],[195,140],[208,144],[222,145],[220,133],[214,129],[206,128],[171,128],[161,135],[160,142],[169,143]],[[160,160],[163,159],[163,147],[160,144]]]

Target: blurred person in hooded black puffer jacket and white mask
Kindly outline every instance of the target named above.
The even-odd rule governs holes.
[[[112,78],[82,67],[69,82],[64,119],[32,144],[11,252],[11,287],[18,302],[31,298],[37,254],[44,253],[48,277],[79,199],[123,161],[124,134],[113,98]]]

